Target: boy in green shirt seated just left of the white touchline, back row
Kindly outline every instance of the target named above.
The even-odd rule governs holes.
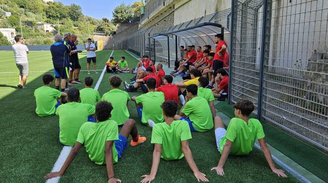
[[[100,101],[99,92],[92,89],[93,79],[86,77],[84,79],[84,89],[80,91],[81,103],[88,103],[95,106],[96,102]],[[89,115],[87,121],[95,122],[93,115]]]

